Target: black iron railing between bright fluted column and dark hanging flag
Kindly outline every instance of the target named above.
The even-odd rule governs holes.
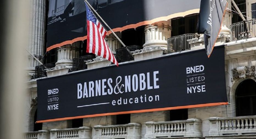
[[[197,38],[197,34],[183,34],[167,39],[167,53],[189,50],[190,45],[187,40]]]

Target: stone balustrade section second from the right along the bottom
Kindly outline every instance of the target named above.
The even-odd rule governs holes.
[[[145,124],[145,138],[202,137],[202,121],[199,119],[146,122]]]

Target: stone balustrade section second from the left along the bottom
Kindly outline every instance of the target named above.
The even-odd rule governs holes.
[[[50,132],[50,139],[90,139],[92,135],[91,127],[51,129]]]

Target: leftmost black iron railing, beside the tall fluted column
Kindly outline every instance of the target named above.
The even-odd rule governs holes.
[[[35,78],[46,77],[47,73],[45,69],[53,68],[55,64],[43,64],[35,66]]]

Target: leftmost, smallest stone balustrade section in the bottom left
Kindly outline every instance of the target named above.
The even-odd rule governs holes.
[[[49,139],[49,132],[47,130],[26,132],[23,135],[23,139]]]

